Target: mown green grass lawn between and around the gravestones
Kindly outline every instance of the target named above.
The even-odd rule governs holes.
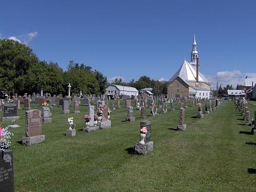
[[[112,102],[116,104],[110,101],[110,106]],[[256,175],[251,174],[256,172],[256,136],[249,134],[252,126],[243,125],[234,102],[225,100],[203,119],[195,118],[198,106],[187,105],[184,132],[175,131],[177,104],[174,112],[168,105],[168,113],[146,118],[151,120],[154,141],[154,151],[146,156],[132,154],[144,120],[135,107],[135,122],[125,122],[124,108],[116,109],[110,128],[86,133],[80,129],[87,106],[79,106],[80,114],[61,114],[62,108],[54,106],[52,123],[42,124],[46,141],[31,147],[22,145],[25,110],[19,110],[15,124],[20,127],[9,129],[14,134],[9,149],[14,156],[15,191],[256,191]],[[247,106],[252,119],[255,101]],[[33,104],[31,108],[38,109]],[[77,124],[75,137],[65,136],[68,117]]]

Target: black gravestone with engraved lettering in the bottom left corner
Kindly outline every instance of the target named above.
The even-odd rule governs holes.
[[[0,189],[14,192],[13,152],[0,151]]]

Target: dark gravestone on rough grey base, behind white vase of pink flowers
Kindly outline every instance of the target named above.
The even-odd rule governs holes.
[[[151,121],[143,120],[140,122],[140,130],[145,127],[147,130],[146,137],[144,139],[144,144],[135,143],[134,152],[137,155],[146,155],[153,151],[154,142],[151,141]]]

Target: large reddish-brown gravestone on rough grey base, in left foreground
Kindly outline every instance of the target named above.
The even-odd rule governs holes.
[[[23,145],[32,146],[45,141],[41,129],[41,111],[26,111],[26,137],[22,137]]]

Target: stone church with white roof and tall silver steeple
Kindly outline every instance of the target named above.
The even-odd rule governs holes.
[[[174,97],[212,97],[210,83],[199,72],[199,57],[195,34],[192,46],[190,63],[185,59],[180,69],[168,80],[167,94]]]

